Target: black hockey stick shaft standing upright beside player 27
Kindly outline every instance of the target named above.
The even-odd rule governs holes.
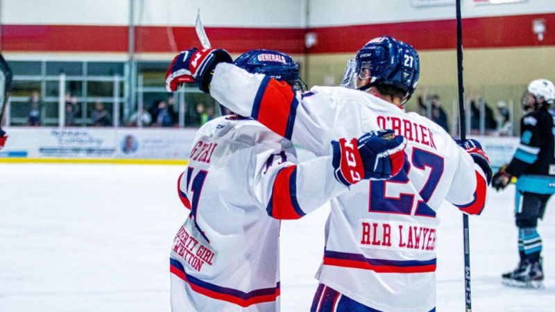
[[[461,16],[461,0],[456,0],[456,69],[459,83],[459,123],[461,141],[466,140],[466,114],[464,109],[464,84],[463,84],[463,22]],[[466,312],[472,311],[472,293],[470,292],[470,227],[468,215],[463,214],[463,239],[464,239],[464,293]]]

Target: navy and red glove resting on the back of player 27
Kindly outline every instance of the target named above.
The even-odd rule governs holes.
[[[350,186],[361,180],[388,180],[404,165],[407,140],[393,130],[368,132],[359,139],[332,141],[335,178]]]

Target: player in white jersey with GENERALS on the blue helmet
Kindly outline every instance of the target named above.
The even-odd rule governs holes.
[[[192,60],[195,69],[209,70],[221,56],[212,52],[178,55],[167,73],[169,91],[177,88],[172,74],[191,71]],[[299,81],[298,64],[284,53],[250,51],[236,64],[290,85]],[[223,116],[203,125],[178,182],[191,213],[171,251],[172,311],[279,311],[280,220],[308,214],[348,191],[346,185],[398,173],[406,141],[383,138],[391,132],[341,139],[334,155],[297,164],[291,141],[251,118]]]

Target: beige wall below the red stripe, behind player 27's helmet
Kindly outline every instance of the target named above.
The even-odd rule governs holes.
[[[310,55],[305,76],[308,85],[339,85],[345,64],[354,55]],[[522,116],[520,98],[528,83],[536,78],[555,81],[555,47],[466,50],[464,66],[466,96],[485,98],[495,114],[498,101],[513,101],[518,120]],[[451,120],[457,98],[456,51],[422,51],[420,67],[420,83],[407,110],[418,111],[417,96],[438,94]]]

